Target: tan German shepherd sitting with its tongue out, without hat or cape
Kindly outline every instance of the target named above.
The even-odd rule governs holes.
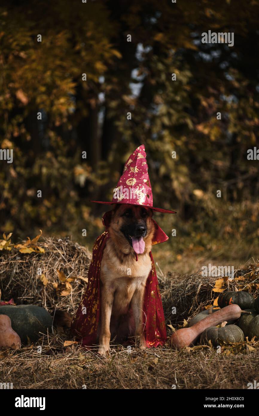
[[[101,260],[101,319],[99,354],[110,349],[110,340],[136,337],[138,347],[147,347],[143,334],[143,302],[146,280],[151,270],[152,238],[155,226],[152,210],[118,204],[111,211]],[[138,261],[136,261],[136,254]]]

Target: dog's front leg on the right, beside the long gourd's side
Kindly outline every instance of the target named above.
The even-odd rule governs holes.
[[[132,311],[135,320],[135,337],[137,345],[140,349],[147,348],[146,338],[143,334],[145,327],[145,323],[143,322],[143,319],[145,319],[145,317],[143,317],[144,292],[145,286],[141,285],[141,287],[135,290],[131,300]]]

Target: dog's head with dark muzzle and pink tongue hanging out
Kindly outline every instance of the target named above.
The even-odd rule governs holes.
[[[152,210],[143,206],[116,205],[111,211],[109,233],[123,253],[129,253],[131,248],[137,254],[150,250],[154,234]]]

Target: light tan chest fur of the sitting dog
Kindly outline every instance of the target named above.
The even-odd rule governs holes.
[[[101,282],[104,293],[114,291],[113,315],[127,313],[133,293],[139,286],[146,286],[150,270],[149,250],[138,255],[138,261],[132,254],[118,258],[111,240],[107,241],[101,260]]]

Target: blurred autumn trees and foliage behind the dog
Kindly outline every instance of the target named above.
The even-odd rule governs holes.
[[[0,147],[13,163],[0,161],[0,231],[91,248],[105,206],[89,201],[111,200],[145,144],[154,206],[178,212],[155,214],[170,236],[160,264],[256,256],[258,21],[255,0],[2,0]],[[208,30],[234,32],[234,46],[203,44]]]

